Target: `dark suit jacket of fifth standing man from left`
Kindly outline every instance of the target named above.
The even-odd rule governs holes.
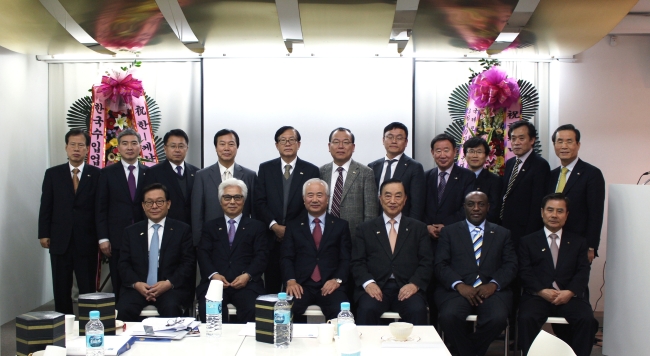
[[[260,164],[258,170],[258,184],[255,186],[255,216],[267,227],[273,220],[280,225],[286,225],[287,222],[300,216],[305,211],[302,186],[307,180],[319,177],[318,167],[300,158],[296,159],[285,215],[283,165],[282,158],[278,157]]]

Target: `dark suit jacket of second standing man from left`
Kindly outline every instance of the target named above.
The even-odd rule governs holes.
[[[142,187],[147,167],[138,162],[138,184],[131,200],[129,185],[121,162],[102,169],[97,188],[97,239],[108,239],[111,248],[119,250],[124,229],[144,219]]]

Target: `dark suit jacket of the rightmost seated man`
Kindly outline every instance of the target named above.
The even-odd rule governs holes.
[[[586,299],[590,268],[587,242],[579,235],[562,230],[556,267],[553,267],[553,256],[544,229],[521,239],[519,277],[522,288],[529,294],[553,288],[555,281],[560,289],[570,290],[578,298]]]

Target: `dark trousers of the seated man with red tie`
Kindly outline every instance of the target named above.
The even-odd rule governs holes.
[[[296,323],[307,322],[307,318],[302,314],[305,313],[310,305],[318,305],[325,315],[325,320],[334,319],[341,311],[341,303],[348,301],[345,294],[345,285],[340,286],[329,295],[323,296],[320,291],[321,287],[302,285],[302,297],[293,299],[293,320]]]

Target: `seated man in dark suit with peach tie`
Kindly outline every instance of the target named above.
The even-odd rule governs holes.
[[[405,322],[426,325],[424,291],[433,274],[427,227],[402,215],[407,199],[402,182],[388,179],[380,188],[384,213],[359,225],[352,240],[356,322],[377,325],[390,310]]]

